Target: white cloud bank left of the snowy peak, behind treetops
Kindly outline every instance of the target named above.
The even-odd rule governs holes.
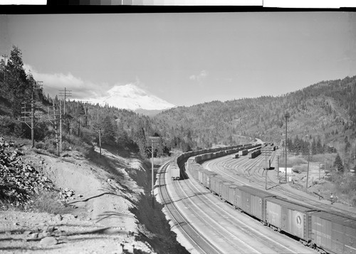
[[[71,73],[40,73],[31,65],[24,64],[23,68],[26,73],[31,71],[33,78],[37,81],[43,81],[43,93],[55,97],[60,90],[70,90],[72,99],[83,100],[88,97],[103,97],[107,95],[110,89],[108,83],[93,83],[75,77]]]

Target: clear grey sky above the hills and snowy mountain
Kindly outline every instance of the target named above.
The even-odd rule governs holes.
[[[0,15],[45,94],[80,100],[134,84],[177,106],[278,96],[356,75],[356,13]]]

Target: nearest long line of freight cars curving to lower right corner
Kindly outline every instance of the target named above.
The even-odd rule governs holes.
[[[244,149],[244,147],[237,149]],[[206,154],[192,155],[192,157],[182,154],[175,163],[179,165],[178,162],[187,157],[189,159],[186,168],[194,179],[234,208],[239,208],[240,211],[258,219],[266,226],[300,239],[301,243],[320,252],[356,253],[355,218],[288,201],[251,186],[234,184],[199,164],[209,157]]]

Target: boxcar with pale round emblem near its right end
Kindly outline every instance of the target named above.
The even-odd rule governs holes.
[[[267,198],[267,223],[303,240],[309,240],[311,221],[310,212],[313,208],[291,203],[286,199]]]

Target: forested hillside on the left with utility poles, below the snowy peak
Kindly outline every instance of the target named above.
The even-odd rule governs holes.
[[[43,95],[41,83],[25,72],[21,50],[14,46],[6,63],[4,59],[0,61],[0,134],[31,139],[33,117],[35,146],[53,154],[69,149],[90,154],[93,144],[99,144],[100,134],[103,146],[150,156],[147,137],[159,134],[153,131],[149,117],[108,105],[68,100],[68,97],[65,102],[59,95],[59,91],[54,98]],[[163,139],[160,140],[155,153],[169,153]]]

